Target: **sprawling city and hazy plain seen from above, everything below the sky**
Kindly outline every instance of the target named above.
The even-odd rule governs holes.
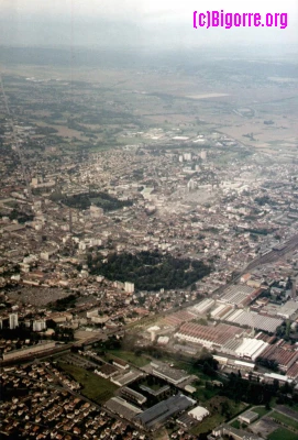
[[[0,42],[1,439],[297,439],[297,52],[70,48]]]

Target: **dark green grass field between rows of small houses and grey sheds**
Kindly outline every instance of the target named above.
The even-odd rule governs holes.
[[[68,373],[75,381],[82,385],[81,394],[95,400],[97,404],[102,404],[113,397],[117,385],[98,376],[95,373],[88,372],[85,369],[76,365],[59,363],[59,366]]]

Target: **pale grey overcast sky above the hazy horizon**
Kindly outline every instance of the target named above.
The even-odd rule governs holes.
[[[195,10],[288,13],[286,29],[197,29]],[[297,44],[298,0],[0,0],[0,44],[192,47]]]

